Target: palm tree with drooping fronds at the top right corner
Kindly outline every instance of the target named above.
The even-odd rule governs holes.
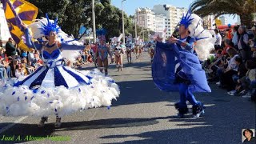
[[[253,25],[253,13],[256,13],[256,0],[195,0],[191,4],[195,14],[202,17],[214,14],[215,18],[222,14],[238,14],[241,24]]]

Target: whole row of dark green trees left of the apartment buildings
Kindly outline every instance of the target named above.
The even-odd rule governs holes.
[[[50,19],[58,18],[58,25],[67,34],[78,36],[81,24],[86,28],[92,27],[91,0],[28,0],[38,6],[38,18],[45,17],[47,13]],[[110,0],[95,0],[96,29],[104,28],[107,31],[106,38],[117,37],[122,33],[122,10],[111,5]],[[125,33],[133,33],[132,18],[124,14]]]

